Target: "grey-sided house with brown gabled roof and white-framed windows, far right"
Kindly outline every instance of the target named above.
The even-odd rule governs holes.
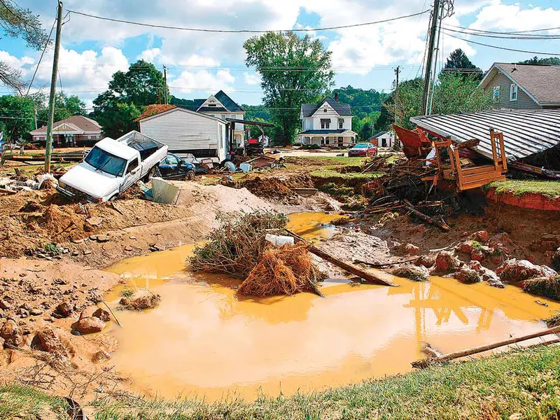
[[[560,66],[494,63],[480,86],[497,109],[560,109]]]

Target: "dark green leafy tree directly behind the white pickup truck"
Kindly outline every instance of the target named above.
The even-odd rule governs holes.
[[[128,71],[117,71],[109,82],[109,89],[93,102],[94,119],[109,137],[120,137],[137,129],[134,119],[145,106],[158,104],[165,92],[161,71],[151,63],[138,60]]]

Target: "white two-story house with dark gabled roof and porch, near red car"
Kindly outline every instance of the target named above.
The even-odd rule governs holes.
[[[302,132],[297,134],[301,144],[346,147],[356,143],[352,131],[349,104],[340,104],[327,97],[318,104],[302,104],[300,113]]]

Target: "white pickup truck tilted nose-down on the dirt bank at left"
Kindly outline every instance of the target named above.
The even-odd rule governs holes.
[[[116,140],[106,137],[59,179],[57,190],[90,202],[116,200],[140,179],[148,181],[157,174],[166,155],[165,144],[136,131]]]

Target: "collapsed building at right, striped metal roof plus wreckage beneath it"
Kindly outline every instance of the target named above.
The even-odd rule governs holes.
[[[451,115],[412,117],[426,134],[458,145],[479,141],[470,149],[493,160],[489,172],[507,165],[551,178],[560,178],[560,109],[515,110],[500,109]],[[491,134],[493,133],[493,134]],[[499,134],[503,143],[494,137]],[[400,134],[399,134],[400,137]],[[402,143],[405,140],[400,137]],[[484,176],[479,173],[479,176]]]

